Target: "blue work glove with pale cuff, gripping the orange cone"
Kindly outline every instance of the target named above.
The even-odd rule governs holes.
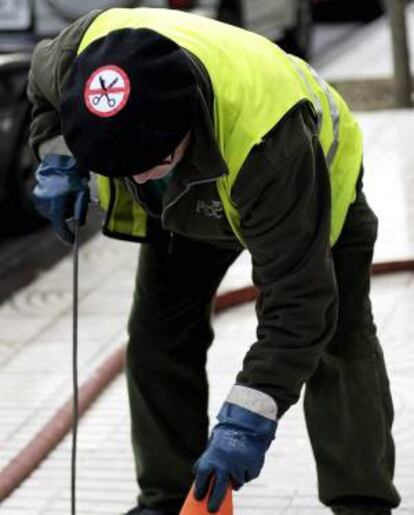
[[[213,513],[219,510],[229,483],[234,490],[238,490],[244,483],[258,477],[277,427],[277,408],[273,399],[251,388],[236,385],[233,391],[235,389],[247,391],[250,396],[256,392],[259,397],[268,397],[274,410],[267,410],[266,415],[270,413],[271,417],[267,418],[256,409],[251,411],[228,402],[232,395],[223,404],[217,417],[219,423],[213,429],[207,449],[195,465],[194,496],[197,500],[204,499],[213,479],[207,502],[208,510]]]

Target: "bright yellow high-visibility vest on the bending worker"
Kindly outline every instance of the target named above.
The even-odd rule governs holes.
[[[217,181],[217,188],[226,216],[240,241],[239,213],[231,199],[240,168],[252,148],[288,111],[301,101],[309,101],[319,115],[319,138],[329,164],[333,206],[331,243],[334,243],[348,206],[354,200],[362,155],[358,126],[341,97],[321,79],[317,80],[306,63],[292,59],[267,39],[175,10],[115,8],[104,11],[85,32],[78,52],[96,39],[122,28],[157,31],[193,53],[205,66],[214,90],[216,141],[229,171]],[[120,205],[125,208],[124,202]],[[124,228],[128,211],[142,216],[132,208],[123,209]],[[117,230],[118,213],[114,210],[112,216],[112,226]],[[128,230],[132,232],[133,220],[130,225]]]

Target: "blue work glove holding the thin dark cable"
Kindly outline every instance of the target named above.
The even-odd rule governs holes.
[[[76,220],[79,225],[85,223],[90,200],[89,172],[71,156],[47,154],[35,176],[36,209],[51,221],[56,235],[64,243],[73,244],[68,220]]]

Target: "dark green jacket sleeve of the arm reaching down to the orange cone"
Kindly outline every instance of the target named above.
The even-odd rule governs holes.
[[[232,192],[259,290],[257,341],[237,383],[271,395],[279,417],[299,398],[337,319],[329,174],[307,111],[296,109],[251,152]]]

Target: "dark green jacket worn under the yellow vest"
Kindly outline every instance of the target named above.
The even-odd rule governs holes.
[[[56,149],[64,152],[59,98],[79,41],[98,12],[35,50],[28,94],[33,103],[31,142],[39,157]],[[195,58],[193,65],[199,111],[191,145],[158,212],[145,186],[136,188],[135,198],[172,234],[239,248],[215,185],[227,171],[214,140],[212,88]],[[54,147],[48,143],[51,140],[60,143]],[[296,106],[253,149],[238,174],[232,198],[260,291],[257,341],[246,354],[237,382],[272,395],[282,414],[298,399],[316,368],[337,317],[329,245],[329,175],[307,104]]]

